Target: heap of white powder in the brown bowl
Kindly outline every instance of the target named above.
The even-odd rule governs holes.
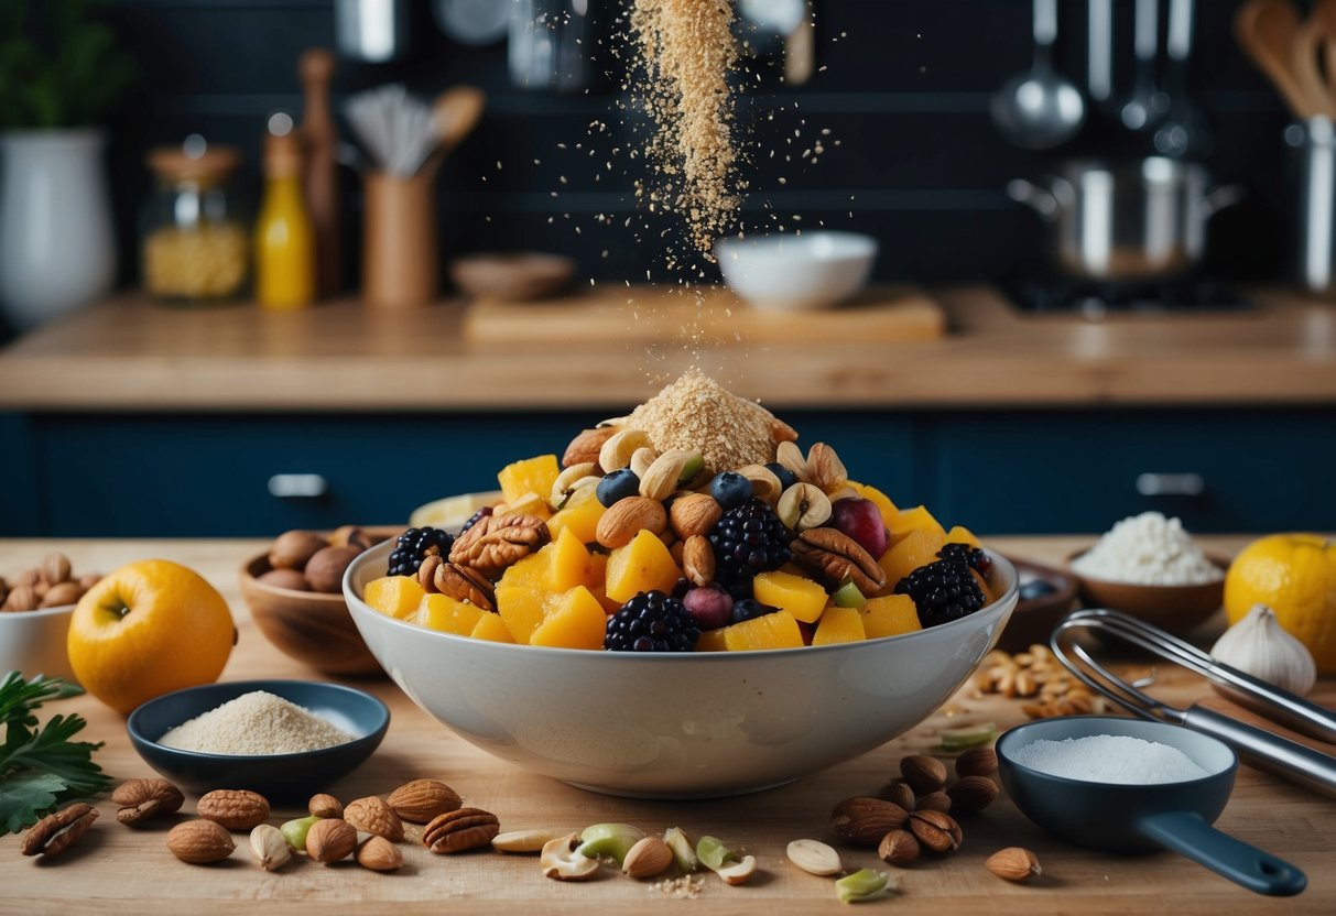
[[[1224,573],[1206,559],[1177,518],[1148,511],[1124,518],[1071,561],[1079,576],[1136,585],[1202,585]]]

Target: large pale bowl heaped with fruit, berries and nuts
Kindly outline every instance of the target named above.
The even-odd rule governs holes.
[[[601,792],[732,794],[871,750],[951,696],[1017,602],[967,530],[696,374],[498,482],[460,529],[354,559],[349,610],[441,722]]]

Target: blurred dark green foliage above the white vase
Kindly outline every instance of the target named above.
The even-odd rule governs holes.
[[[103,3],[0,1],[0,127],[96,124],[130,85],[134,60],[92,16]]]

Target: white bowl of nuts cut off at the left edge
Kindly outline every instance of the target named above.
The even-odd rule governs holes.
[[[0,577],[0,674],[23,672],[73,681],[65,636],[75,605],[98,574],[76,576],[69,558],[48,554],[16,577]]]

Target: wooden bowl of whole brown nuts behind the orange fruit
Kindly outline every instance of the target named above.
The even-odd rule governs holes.
[[[346,525],[333,534],[294,530],[240,569],[240,592],[261,633],[279,652],[326,674],[378,674],[343,598],[343,570],[398,527]]]

